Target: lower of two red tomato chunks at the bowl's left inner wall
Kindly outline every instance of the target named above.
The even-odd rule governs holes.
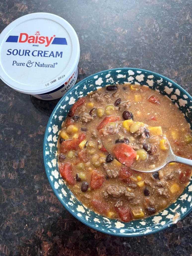
[[[72,174],[72,164],[60,163],[59,172],[61,174],[61,177],[65,179],[70,185],[75,184],[75,177],[73,177],[73,174]]]

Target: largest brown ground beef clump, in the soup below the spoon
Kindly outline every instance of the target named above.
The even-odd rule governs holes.
[[[104,198],[107,199],[109,195],[115,197],[115,198],[120,198],[121,196],[125,195],[127,197],[127,200],[131,200],[135,197],[133,193],[130,193],[126,190],[125,187],[115,185],[111,186],[109,185],[105,191],[103,191]]]

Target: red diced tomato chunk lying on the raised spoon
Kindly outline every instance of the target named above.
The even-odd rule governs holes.
[[[136,151],[125,143],[118,143],[114,146],[114,154],[118,161],[131,167],[137,155]]]

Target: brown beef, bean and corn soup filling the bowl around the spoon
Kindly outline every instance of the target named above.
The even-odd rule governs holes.
[[[129,222],[156,214],[174,202],[189,183],[191,168],[171,163],[150,174],[119,163],[103,146],[100,130],[125,120],[161,126],[173,152],[191,157],[189,124],[168,98],[147,86],[115,84],[74,103],[59,132],[58,166],[82,204],[108,218]]]

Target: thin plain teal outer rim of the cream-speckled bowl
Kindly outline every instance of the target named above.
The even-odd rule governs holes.
[[[128,71],[128,70],[132,70],[132,71],[141,71],[141,72],[148,72],[148,73],[151,73],[152,75],[155,75],[155,76],[159,76],[160,78],[163,78],[163,79],[167,80],[168,82],[174,84],[174,86],[176,86],[177,88],[179,88],[179,89],[180,89],[183,93],[185,93],[185,94],[189,97],[189,99],[192,101],[191,95],[190,95],[187,91],[185,91],[181,86],[179,86],[176,82],[170,80],[169,78],[167,78],[167,77],[165,77],[165,76],[163,76],[163,75],[161,75],[161,74],[158,74],[158,73],[153,72],[153,71],[150,71],[150,70],[145,70],[145,69],[140,69],[140,68],[129,68],[129,67],[127,67],[127,68],[107,69],[107,70],[103,70],[103,71],[94,73],[94,74],[92,74],[92,75],[90,75],[90,76],[88,76],[88,77],[82,79],[81,81],[79,81],[78,83],[76,83],[69,91],[67,91],[67,92],[63,95],[63,97],[59,100],[59,102],[57,103],[57,105],[55,106],[54,110],[52,111],[52,113],[51,113],[51,115],[50,115],[50,118],[49,118],[48,123],[47,123],[47,126],[46,126],[46,130],[45,130],[45,134],[44,134],[44,142],[43,142],[43,158],[44,158],[45,172],[46,172],[46,175],[47,175],[49,184],[50,184],[50,186],[51,186],[51,188],[52,188],[54,194],[56,195],[56,197],[58,198],[58,200],[59,200],[60,203],[62,204],[62,206],[64,206],[64,207],[66,208],[66,210],[69,211],[70,214],[73,215],[73,217],[75,217],[77,220],[79,220],[80,222],[82,222],[84,225],[86,225],[86,226],[88,226],[88,227],[90,227],[90,228],[93,228],[93,229],[95,229],[95,230],[97,230],[97,231],[99,231],[99,232],[102,232],[102,233],[105,233],[105,234],[108,234],[108,235],[112,235],[112,236],[118,236],[118,237],[140,237],[140,236],[147,236],[147,235],[150,235],[150,234],[154,234],[154,233],[160,232],[160,231],[162,231],[162,230],[164,230],[164,229],[166,229],[166,228],[168,228],[168,227],[171,227],[171,226],[173,226],[173,225],[174,225],[175,223],[177,223],[177,222],[170,223],[170,224],[165,224],[165,225],[163,225],[162,227],[159,227],[158,229],[152,230],[152,231],[147,232],[147,233],[144,233],[144,232],[143,232],[143,233],[136,233],[136,234],[134,234],[134,233],[114,233],[114,232],[111,232],[110,230],[109,230],[109,231],[106,231],[106,230],[100,229],[100,228],[98,228],[98,227],[95,227],[95,226],[92,225],[91,223],[86,222],[84,219],[81,219],[81,217],[77,216],[76,212],[73,212],[73,211],[70,209],[70,207],[69,207],[68,205],[66,205],[66,203],[59,197],[58,192],[57,192],[57,189],[54,187],[54,184],[53,184],[53,182],[52,182],[51,179],[50,179],[50,176],[49,176],[48,170],[47,170],[47,165],[46,165],[46,155],[45,155],[45,151],[46,151],[46,150],[45,150],[45,149],[46,149],[46,140],[47,140],[47,134],[48,134],[49,124],[50,124],[50,122],[51,122],[52,120],[55,120],[55,119],[53,119],[53,117],[54,117],[54,115],[55,115],[55,112],[56,112],[57,109],[59,108],[60,104],[62,103],[63,99],[64,99],[65,97],[69,96],[69,93],[70,93],[70,92],[73,92],[74,90],[76,90],[76,87],[79,86],[79,85],[80,85],[81,83],[83,83],[84,81],[89,80],[90,78],[93,78],[94,76],[99,76],[99,75],[101,75],[101,74],[104,73],[104,72],[109,72],[109,71],[112,72],[112,71],[117,71],[117,70],[120,70],[120,71],[121,71],[121,70],[127,70],[127,71]],[[187,186],[188,186],[188,185],[187,185]],[[185,189],[186,189],[186,188],[185,188]],[[184,191],[185,191],[185,190],[184,190]],[[183,191],[183,193],[184,193],[184,191]],[[71,193],[72,193],[72,192],[71,192]],[[183,194],[183,193],[182,193],[182,194]],[[181,195],[182,195],[182,194],[181,194]],[[72,194],[72,195],[73,195],[73,194]],[[73,195],[73,196],[74,196],[74,195]],[[75,196],[74,196],[74,197],[75,197]],[[75,197],[75,198],[76,198],[76,197]],[[78,200],[78,199],[77,199],[77,200]],[[178,199],[177,199],[177,200],[178,200]],[[176,201],[177,201],[177,200],[176,200]],[[173,203],[172,203],[172,204],[173,204]],[[169,206],[168,206],[168,207],[169,207]],[[166,210],[166,209],[167,209],[167,208],[165,208],[164,210]],[[178,221],[180,221],[180,220],[182,220],[183,218],[185,218],[185,217],[191,212],[191,210],[192,210],[192,206],[189,207],[189,209],[188,209],[185,213],[183,213],[182,215],[180,215]],[[101,215],[101,216],[102,216],[102,215]],[[153,215],[153,216],[155,216],[155,215]],[[143,219],[142,219],[142,220],[143,220]],[[118,221],[119,221],[119,220],[118,220]],[[124,223],[124,222],[122,221],[122,223]]]

